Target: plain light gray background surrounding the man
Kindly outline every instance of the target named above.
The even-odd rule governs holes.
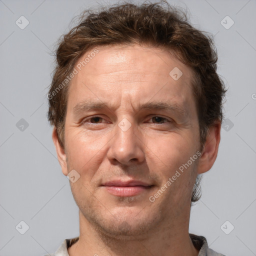
[[[187,6],[191,22],[214,35],[218,72],[229,87],[229,120],[221,128],[217,160],[203,175],[201,200],[191,208],[189,231],[204,235],[223,254],[256,255],[256,1],[169,2]],[[45,95],[53,69],[49,53],[71,18],[92,5],[97,4],[0,0],[1,256],[43,255],[79,234],[78,208],[56,159]],[[29,21],[24,29],[15,24],[21,15]],[[226,15],[234,21],[229,29],[220,23]],[[23,130],[21,118],[28,123]],[[24,234],[15,229],[21,220],[29,226]],[[234,226],[229,234],[220,228],[226,220],[226,232]]]

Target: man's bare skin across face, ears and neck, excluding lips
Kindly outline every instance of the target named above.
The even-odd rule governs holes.
[[[71,81],[64,148],[55,129],[52,133],[63,174],[75,169],[80,175],[70,181],[79,207],[80,235],[68,253],[197,255],[188,235],[190,198],[197,173],[215,161],[220,123],[209,128],[200,157],[151,202],[149,196],[200,148],[192,70],[159,48],[134,44],[97,49]],[[169,75],[174,67],[183,73],[178,80]],[[75,113],[75,106],[85,100],[109,106]],[[139,109],[152,101],[175,108]],[[123,118],[130,124],[126,131],[118,126]],[[137,195],[117,196],[102,186],[113,179],[151,186]]]

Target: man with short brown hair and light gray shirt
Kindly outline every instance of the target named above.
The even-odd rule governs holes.
[[[222,255],[188,233],[220,140],[216,60],[165,1],[85,12],[64,35],[48,118],[80,234],[54,255]]]

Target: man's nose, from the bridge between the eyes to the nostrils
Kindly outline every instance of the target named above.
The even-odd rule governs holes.
[[[114,133],[107,151],[107,158],[112,163],[130,165],[144,161],[144,144],[135,124],[124,118],[116,124]]]

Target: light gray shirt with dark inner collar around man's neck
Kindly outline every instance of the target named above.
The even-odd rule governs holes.
[[[208,247],[206,238],[195,234],[189,234],[194,247],[199,250],[198,256],[225,256],[221,253],[217,253]],[[44,256],[69,256],[67,248],[78,240],[78,237],[72,239],[65,239],[58,249],[52,254],[46,254]]]

